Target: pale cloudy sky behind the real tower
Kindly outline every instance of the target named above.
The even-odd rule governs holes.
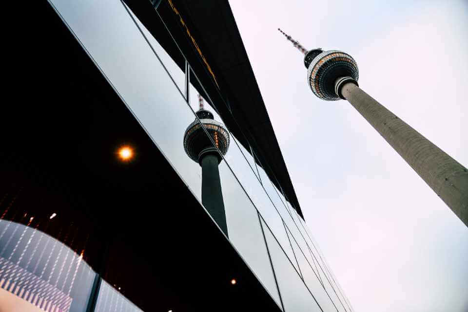
[[[467,1],[230,1],[307,224],[356,312],[468,311],[468,228],[346,101],[307,85],[307,49],[468,165]]]

